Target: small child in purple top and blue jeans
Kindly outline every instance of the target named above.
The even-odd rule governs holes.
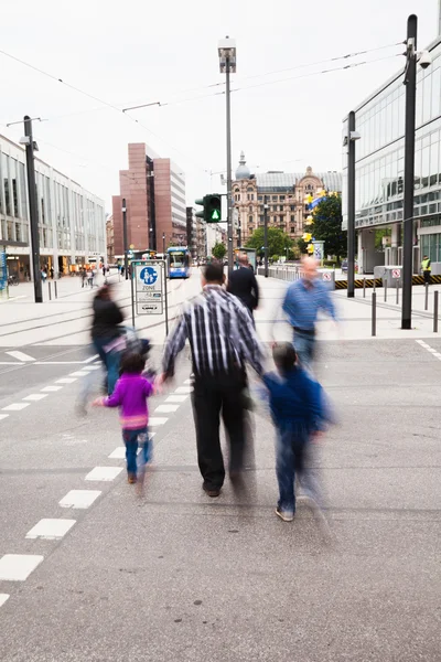
[[[151,459],[151,442],[148,434],[149,409],[147,398],[153,394],[153,383],[142,376],[146,359],[141,354],[126,354],[121,361],[122,374],[112,395],[97,398],[95,406],[119,407],[119,421],[126,446],[127,476],[129,483],[137,482],[137,455],[141,447],[142,478],[146,465]]]

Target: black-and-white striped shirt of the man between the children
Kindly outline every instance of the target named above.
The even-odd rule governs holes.
[[[185,307],[164,350],[162,369],[173,374],[174,360],[189,339],[196,376],[233,373],[245,361],[262,373],[262,349],[245,306],[219,285],[206,285]]]

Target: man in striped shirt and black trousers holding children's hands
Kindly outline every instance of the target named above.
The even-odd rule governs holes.
[[[245,362],[262,373],[262,349],[252,320],[243,303],[223,288],[223,266],[208,265],[202,279],[203,292],[185,307],[168,339],[162,381],[174,373],[174,361],[189,339],[192,351],[197,460],[203,489],[218,496],[225,479],[219,440],[219,414],[229,439],[229,472],[243,468],[245,447]]]

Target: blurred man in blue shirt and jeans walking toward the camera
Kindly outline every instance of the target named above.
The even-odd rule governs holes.
[[[282,305],[294,332],[294,348],[303,367],[311,369],[315,352],[315,322],[319,311],[337,320],[330,290],[319,280],[318,260],[302,261],[302,277],[289,286]]]

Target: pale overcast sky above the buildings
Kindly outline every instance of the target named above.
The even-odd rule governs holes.
[[[104,197],[108,212],[128,142],[147,142],[179,163],[189,204],[223,192],[209,171],[226,169],[225,95],[208,86],[225,81],[217,41],[228,34],[237,44],[232,87],[243,88],[232,95],[233,170],[240,150],[254,172],[340,170],[343,116],[404,66],[392,56],[402,46],[295,67],[401,42],[412,12],[422,47],[437,36],[438,0],[3,2],[7,53],[119,108],[173,104],[132,111],[140,127],[0,54],[0,132],[18,141],[22,127],[7,122],[25,114],[49,119],[34,126],[40,158]],[[387,58],[311,75],[378,57]],[[271,72],[282,73],[263,75]],[[268,84],[278,79],[284,81]]]

